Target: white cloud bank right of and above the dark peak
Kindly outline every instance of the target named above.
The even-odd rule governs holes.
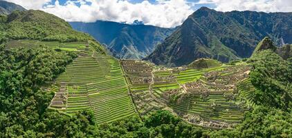
[[[254,10],[261,12],[292,12],[291,0],[200,0],[197,4],[215,4],[215,10]]]

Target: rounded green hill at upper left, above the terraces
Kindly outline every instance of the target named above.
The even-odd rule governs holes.
[[[1,39],[38,39],[42,41],[87,41],[89,34],[77,32],[69,23],[41,10],[15,11],[0,17]]]

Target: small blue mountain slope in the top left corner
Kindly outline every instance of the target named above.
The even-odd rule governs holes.
[[[24,11],[26,9],[15,3],[10,3],[8,1],[0,1],[0,14],[10,14],[15,10]]]

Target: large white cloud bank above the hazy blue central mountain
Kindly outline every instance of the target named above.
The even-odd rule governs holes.
[[[88,4],[90,3],[90,4]],[[66,21],[93,22],[96,20],[133,23],[143,21],[147,25],[165,28],[181,25],[194,12],[185,0],[157,0],[155,3],[142,1],[130,3],[125,0],[78,0],[59,1],[44,6],[45,12],[66,19]]]

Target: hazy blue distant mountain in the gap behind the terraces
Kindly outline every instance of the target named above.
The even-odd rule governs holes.
[[[104,43],[120,59],[142,59],[153,52],[173,31],[173,28],[159,28],[143,24],[129,25],[111,21],[95,23],[71,22],[75,30],[91,34]]]

